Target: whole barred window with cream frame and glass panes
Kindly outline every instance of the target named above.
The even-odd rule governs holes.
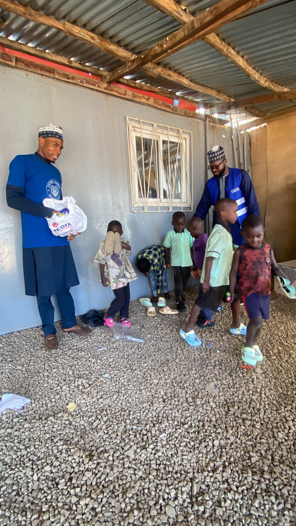
[[[134,211],[192,210],[190,131],[127,117]]]

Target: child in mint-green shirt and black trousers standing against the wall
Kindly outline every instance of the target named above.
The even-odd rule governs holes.
[[[173,230],[167,232],[163,246],[166,252],[167,266],[173,267],[176,307],[180,312],[186,310],[184,290],[190,278],[192,259],[190,248],[193,237],[185,228],[184,212],[174,212],[172,217]]]

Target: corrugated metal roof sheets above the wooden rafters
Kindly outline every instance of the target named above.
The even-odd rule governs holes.
[[[177,2],[194,16],[217,3],[215,0]],[[23,0],[19,4],[57,21],[82,27],[135,55],[153,47],[181,27],[180,22],[146,4],[144,0]],[[124,64],[122,59],[67,36],[58,29],[1,9],[0,18],[4,22],[4,27],[0,27],[0,35],[7,39],[107,71]],[[259,73],[290,89],[296,88],[295,0],[269,0],[254,11],[221,27],[217,34]],[[272,93],[255,83],[204,41],[184,47],[160,64],[196,84],[218,90],[235,100]],[[182,94],[201,104],[224,105],[216,97],[186,88],[162,76],[152,77],[143,70],[131,72],[128,77]],[[277,108],[290,107],[294,102],[283,100],[255,107],[268,113]]]

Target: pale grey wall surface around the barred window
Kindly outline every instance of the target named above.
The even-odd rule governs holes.
[[[205,181],[205,138],[204,124],[194,119],[6,66],[0,66],[0,97],[0,333],[5,333],[40,324],[35,298],[24,296],[19,212],[8,208],[5,200],[9,162],[17,154],[34,153],[38,126],[52,122],[63,127],[64,150],[57,161],[63,195],[73,195],[88,218],[87,230],[71,243],[80,277],[80,286],[72,289],[77,315],[105,308],[114,297],[102,287],[93,263],[108,221],[122,222],[124,236],[132,242],[132,263],[142,248],[161,243],[171,228],[169,212],[131,212],[125,117],[192,131],[194,207]],[[230,130],[210,126],[209,143],[223,144],[231,165]],[[173,288],[172,271],[169,274]],[[132,282],[132,299],[149,292],[144,276]]]

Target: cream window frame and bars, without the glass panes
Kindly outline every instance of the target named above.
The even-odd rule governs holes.
[[[151,123],[146,120],[134,117],[126,117],[127,123],[127,140],[129,143],[130,159],[130,184],[132,194],[133,211],[166,211],[166,210],[184,210],[192,211],[192,133],[191,131],[165,126],[162,124]],[[145,195],[146,189],[143,188],[139,167],[136,157],[136,137],[152,139],[151,157],[149,165],[149,175],[147,187],[150,184],[152,152],[155,150],[156,155],[156,178],[157,178],[157,197],[151,198]],[[177,152],[181,155],[181,198],[174,198],[175,178],[172,178],[171,165],[169,160],[169,181],[165,176],[163,164],[162,143],[177,143]],[[154,147],[153,147],[154,146]],[[144,173],[144,167],[143,167]],[[166,184],[164,181],[166,180]],[[139,183],[141,197],[139,197]],[[167,196],[163,195],[163,188],[167,190]],[[160,195],[161,194],[161,195]]]

